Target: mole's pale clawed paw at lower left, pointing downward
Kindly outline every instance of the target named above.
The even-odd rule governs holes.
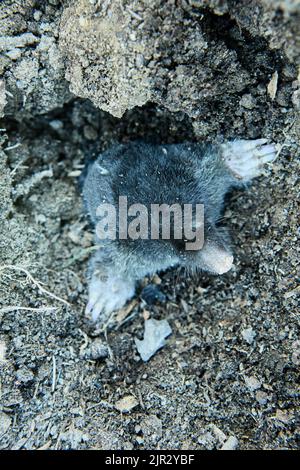
[[[134,282],[118,276],[93,275],[89,286],[89,300],[85,310],[94,322],[105,321],[109,314],[122,308],[135,292]]]

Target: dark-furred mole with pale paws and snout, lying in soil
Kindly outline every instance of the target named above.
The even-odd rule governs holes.
[[[187,250],[184,234],[181,239],[174,233],[169,239],[153,239],[149,229],[149,237],[128,237],[121,234],[120,219],[114,221],[116,233],[111,237],[99,237],[96,230],[99,249],[90,261],[86,314],[94,321],[104,320],[133,297],[138,280],[172,266],[217,275],[229,271],[233,255],[228,234],[217,226],[224,196],[259,176],[275,155],[275,145],[266,139],[215,145],[132,142],[101,154],[90,164],[83,184],[95,227],[104,214],[99,207],[117,209],[120,197],[126,197],[127,207],[145,207],[150,213],[153,204],[198,204],[203,207],[204,238],[201,249]]]

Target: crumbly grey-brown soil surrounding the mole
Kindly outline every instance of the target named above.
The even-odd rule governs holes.
[[[0,5],[0,448],[299,448],[298,2],[39,3]],[[233,269],[92,328],[86,158],[232,138],[282,146],[228,198]],[[147,318],[173,334],[143,363]]]

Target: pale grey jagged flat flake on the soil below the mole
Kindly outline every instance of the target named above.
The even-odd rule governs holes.
[[[144,339],[140,341],[135,338],[137,350],[144,362],[147,362],[160,348],[162,348],[167,338],[172,333],[167,320],[154,320],[150,318],[145,321]]]

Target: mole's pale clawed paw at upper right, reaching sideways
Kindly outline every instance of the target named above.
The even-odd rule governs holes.
[[[226,166],[241,182],[262,174],[263,166],[276,158],[275,144],[267,144],[267,139],[235,140],[222,144],[222,150]]]

